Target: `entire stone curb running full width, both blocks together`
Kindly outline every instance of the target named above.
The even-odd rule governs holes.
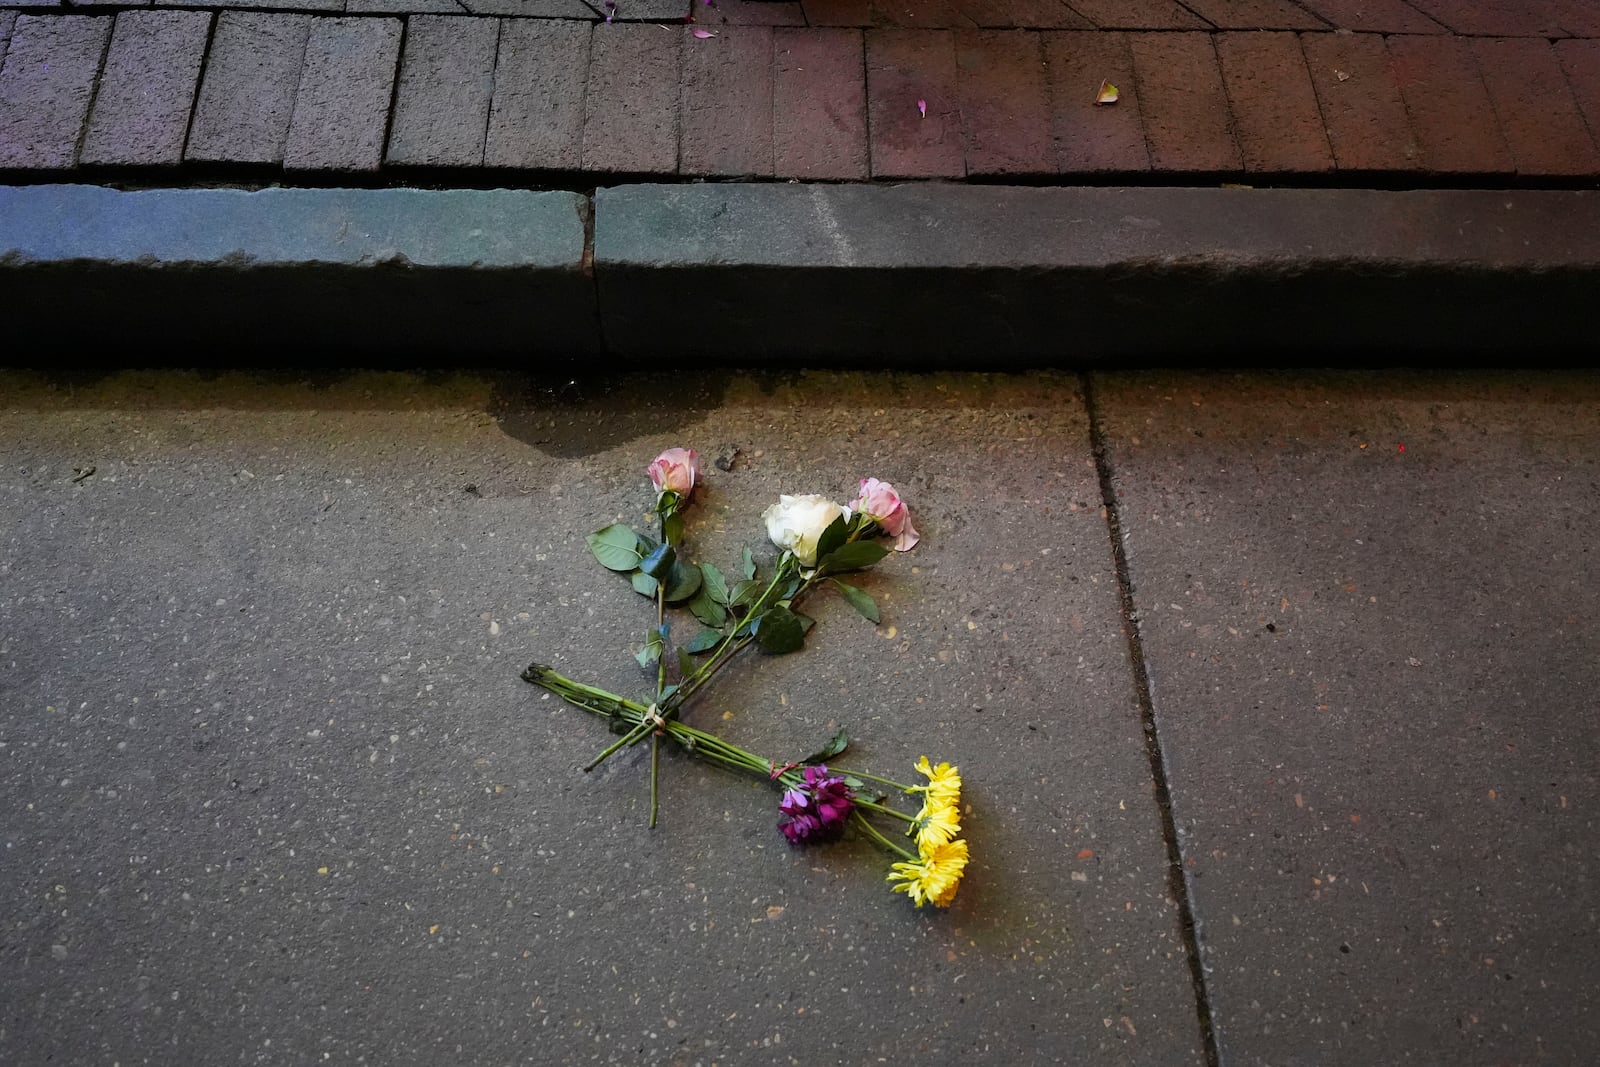
[[[0,189],[18,363],[1592,354],[1597,283],[1594,192]]]

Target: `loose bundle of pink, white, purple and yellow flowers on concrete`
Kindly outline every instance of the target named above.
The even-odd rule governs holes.
[[[947,907],[968,857],[966,841],[958,837],[962,776],[957,768],[922,757],[915,768],[926,781],[915,784],[830,769],[829,761],[850,744],[843,731],[811,757],[779,763],[690,726],[680,717],[685,702],[750,645],[770,654],[800,651],[814,621],[797,605],[821,585],[837,589],[856,611],[878,622],[872,597],[838,576],[877,565],[891,547],[898,552],[915,547],[918,534],[899,493],[886,482],[862,478],[848,506],[822,496],[781,496],[762,515],[768,537],[779,549],[771,573],[763,576],[755,553],[746,547],[730,581],[710,563],[688,563],[680,557],[682,512],[699,480],[694,450],[669,448],[651,461],[648,474],[656,488],[653,510],[659,536],[618,523],[592,533],[589,549],[602,566],[627,576],[635,592],[654,601],[654,625],[635,656],[642,669],[654,673],[651,694],[629,699],[573,681],[544,664],[533,664],[522,675],[568,704],[603,717],[619,734],[584,769],[648,737],[651,825],[658,813],[662,741],[733,771],[758,774],[782,790],[778,830],[790,845],[832,840],[848,827],[894,856],[888,881],[896,893],[907,894],[917,907],[930,902]],[[688,609],[701,625],[682,645],[674,643],[669,606]],[[669,665],[675,669],[672,681]],[[910,811],[912,806],[917,809]]]

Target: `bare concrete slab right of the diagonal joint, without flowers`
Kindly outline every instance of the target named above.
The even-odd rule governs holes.
[[[1224,1064],[1582,1064],[1600,381],[1104,376]]]

